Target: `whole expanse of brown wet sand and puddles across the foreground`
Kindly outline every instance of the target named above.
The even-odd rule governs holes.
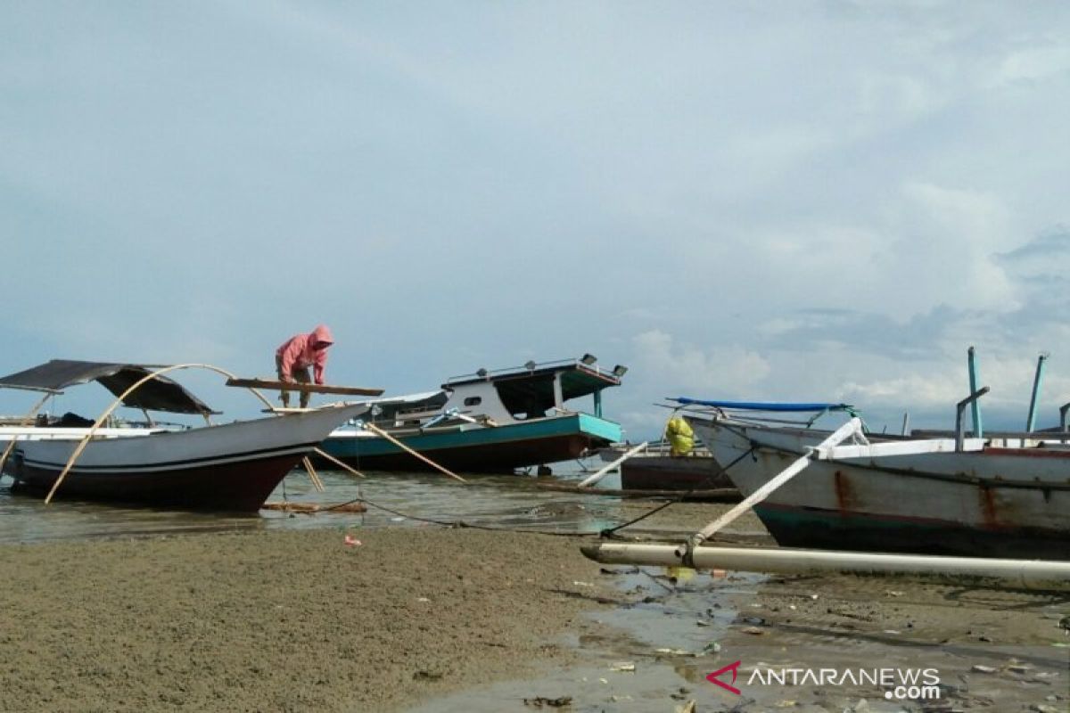
[[[768,543],[752,515],[733,540]],[[3,545],[0,711],[1070,710],[1070,593],[601,567],[586,541],[350,526]],[[736,661],[740,694],[705,679]],[[770,667],[929,667],[939,697],[749,680]]]

